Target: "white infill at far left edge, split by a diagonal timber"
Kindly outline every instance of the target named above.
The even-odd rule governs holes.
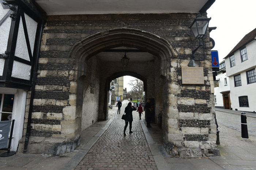
[[[0,5],[0,20],[5,16],[5,14],[10,9],[3,9],[3,6]],[[11,27],[11,18],[7,17],[5,21],[0,25],[0,54],[3,54],[7,49],[8,37]]]

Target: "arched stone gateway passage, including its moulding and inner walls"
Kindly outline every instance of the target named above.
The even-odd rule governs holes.
[[[132,50],[134,53],[140,50],[144,52],[144,56],[136,53],[137,57],[130,60],[128,67],[123,67],[120,59],[106,59],[108,55],[102,55],[108,50]],[[110,81],[123,75],[131,75],[144,82],[146,97],[155,99],[156,122],[163,124],[158,122],[158,117],[159,114],[163,117],[165,109],[163,89],[167,89],[165,80],[170,72],[170,58],[173,54],[173,49],[166,40],[131,28],[100,32],[76,43],[69,57],[75,60],[78,68],[74,76],[77,77],[76,116],[82,119],[81,130],[92,122],[108,119]],[[88,88],[93,89],[93,92]],[[96,95],[91,95],[94,92]],[[84,123],[87,125],[83,126]]]

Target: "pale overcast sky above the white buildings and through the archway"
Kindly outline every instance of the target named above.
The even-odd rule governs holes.
[[[256,28],[256,0],[216,0],[207,11],[211,17],[210,37],[215,41],[219,53],[219,62],[223,61],[236,44],[249,32]],[[124,77],[124,88],[128,86],[131,76]]]

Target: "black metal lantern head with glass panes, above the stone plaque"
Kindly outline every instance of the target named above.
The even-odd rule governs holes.
[[[196,38],[202,38],[208,27],[211,18],[198,17],[194,19],[193,23],[189,26]]]

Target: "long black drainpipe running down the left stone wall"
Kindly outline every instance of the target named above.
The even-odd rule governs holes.
[[[33,82],[32,82],[32,87],[31,87],[31,96],[30,96],[30,103],[29,103],[29,118],[27,120],[27,131],[26,131],[26,139],[25,139],[23,153],[27,152],[27,146],[29,145],[30,130],[32,127],[31,126],[31,115],[32,115],[34,93],[35,93],[35,79],[37,78],[38,57],[39,57],[40,43],[41,43],[41,37],[42,37],[44,23],[45,23],[45,21],[42,20],[40,31],[39,31],[39,37],[38,37],[38,41],[37,41],[38,47],[37,47],[37,54],[36,54],[36,58],[35,58],[35,67],[34,67],[34,72],[33,72]]]

